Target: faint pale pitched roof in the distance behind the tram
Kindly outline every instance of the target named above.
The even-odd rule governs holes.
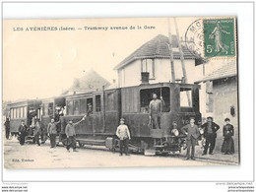
[[[87,72],[82,78],[75,79],[68,91],[102,90],[102,86],[108,87],[110,83],[98,75],[96,71]]]

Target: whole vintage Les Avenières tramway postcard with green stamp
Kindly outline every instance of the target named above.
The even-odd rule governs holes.
[[[236,28],[4,20],[4,167],[239,164]]]

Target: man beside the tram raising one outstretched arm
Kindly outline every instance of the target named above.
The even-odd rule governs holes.
[[[69,149],[72,146],[73,148],[73,152],[78,152],[76,150],[76,145],[77,145],[77,141],[76,141],[76,131],[75,131],[75,127],[81,123],[82,121],[85,120],[85,117],[83,117],[80,121],[78,121],[77,123],[73,123],[72,120],[70,120],[66,126],[65,129],[65,133],[67,135],[68,138],[68,142],[67,142],[67,152],[70,152]]]

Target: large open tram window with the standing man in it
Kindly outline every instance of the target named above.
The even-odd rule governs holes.
[[[153,99],[153,94],[157,94],[159,99],[160,99],[160,96],[162,96],[163,102],[160,108],[161,112],[169,112],[170,110],[169,88],[167,87],[141,90],[140,92],[141,112],[142,113],[150,112],[150,102]]]

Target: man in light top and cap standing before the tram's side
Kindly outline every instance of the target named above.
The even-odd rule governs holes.
[[[120,141],[120,156],[123,156],[123,152],[128,156],[128,144],[131,136],[127,125],[124,124],[124,118],[120,119],[120,125],[117,127],[116,136]]]

